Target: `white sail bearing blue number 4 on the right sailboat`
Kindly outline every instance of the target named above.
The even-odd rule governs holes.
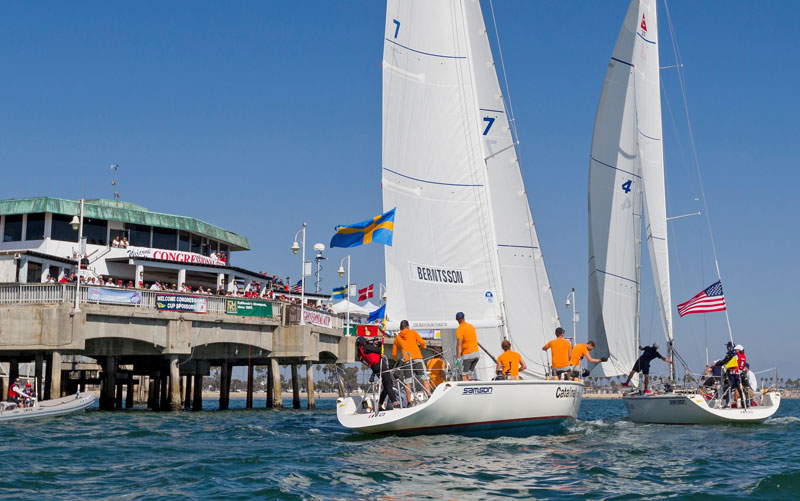
[[[637,159],[633,59],[638,0],[625,16],[597,106],[589,161],[589,339],[593,372],[627,374],[638,351],[642,176]]]

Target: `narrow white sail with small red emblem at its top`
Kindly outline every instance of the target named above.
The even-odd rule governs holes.
[[[650,265],[661,322],[672,340],[672,306],[667,248],[667,208],[664,188],[664,150],[661,142],[661,86],[658,62],[658,22],[655,0],[640,2],[638,50],[634,56],[639,160],[644,185],[644,214]]]

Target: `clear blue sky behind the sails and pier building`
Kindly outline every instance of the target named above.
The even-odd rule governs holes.
[[[797,377],[793,255],[800,4],[669,3],[737,341]],[[586,310],[586,184],[594,113],[627,2],[495,0],[520,157],[556,302]],[[674,64],[660,4],[662,66]],[[299,275],[289,251],[380,211],[385,6],[350,2],[0,4],[0,198],[122,199],[247,236],[236,264]],[[489,19],[488,4],[484,12]],[[493,35],[493,33],[490,32]],[[498,58],[499,59],[499,58]],[[696,176],[675,70],[663,83],[669,212],[694,210]],[[677,132],[676,132],[677,131]],[[684,153],[682,154],[681,151]],[[713,281],[703,220],[670,223],[673,303]],[[310,247],[310,245],[309,245]],[[704,273],[701,275],[700,252]],[[339,285],[340,249],[323,272]],[[677,256],[677,257],[676,257]],[[354,282],[383,277],[379,246],[352,250]],[[680,269],[676,263],[680,260]],[[683,284],[683,285],[682,285]],[[662,337],[643,281],[642,340]],[[727,338],[722,314],[675,317],[694,363]],[[586,339],[586,324],[578,324]]]

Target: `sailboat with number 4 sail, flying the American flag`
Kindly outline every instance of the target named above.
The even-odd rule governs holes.
[[[589,332],[599,355],[609,357],[593,375],[627,375],[638,356],[642,224],[668,358],[674,358],[661,137],[656,2],[632,0],[606,72],[589,162]],[[762,393],[757,406],[738,409],[704,398],[697,388],[623,400],[635,422],[761,422],[778,410],[780,394]]]

